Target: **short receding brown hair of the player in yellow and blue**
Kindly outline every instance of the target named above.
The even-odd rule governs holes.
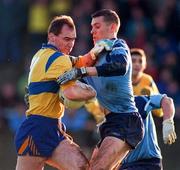
[[[64,25],[67,25],[69,28],[75,30],[73,19],[70,16],[61,15],[54,17],[54,19],[51,21],[48,28],[48,34],[53,33],[54,35],[59,35]]]

